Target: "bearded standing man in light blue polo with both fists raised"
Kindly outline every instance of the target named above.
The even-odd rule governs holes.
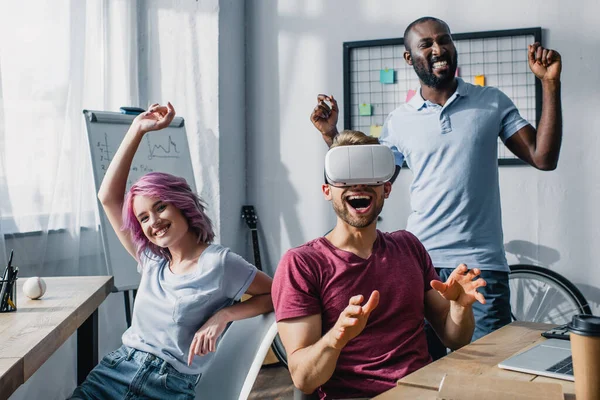
[[[562,137],[561,58],[539,43],[529,45],[529,67],[543,93],[536,130],[497,88],[455,77],[458,55],[444,21],[424,17],[412,22],[404,46],[404,59],[415,69],[421,90],[388,116],[380,142],[394,151],[398,166],[406,161],[413,171],[407,230],[425,245],[442,280],[464,262],[481,269],[487,281],[482,290],[487,304],[473,307],[475,340],[511,321],[497,138],[533,167],[556,168]],[[318,96],[311,121],[328,145],[337,135],[338,113],[333,96]]]

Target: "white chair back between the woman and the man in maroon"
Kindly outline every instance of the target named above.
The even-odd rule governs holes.
[[[234,321],[196,386],[196,398],[246,400],[276,335],[273,312]]]

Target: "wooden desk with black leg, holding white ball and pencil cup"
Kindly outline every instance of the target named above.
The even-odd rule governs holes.
[[[77,383],[98,364],[98,306],[112,276],[44,278],[46,294],[30,300],[17,287],[17,311],[0,313],[0,400],[19,386],[77,331]]]

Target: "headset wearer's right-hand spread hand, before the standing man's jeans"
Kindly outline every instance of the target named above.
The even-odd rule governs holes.
[[[477,291],[477,288],[487,283],[482,278],[474,280],[481,274],[479,268],[469,270],[465,264],[460,264],[448,277],[446,282],[431,281],[431,287],[438,291],[443,298],[455,301],[466,307],[476,301],[485,304],[485,298]]]

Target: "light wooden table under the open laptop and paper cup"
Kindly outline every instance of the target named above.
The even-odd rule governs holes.
[[[398,381],[398,386],[376,397],[377,400],[434,400],[445,374],[488,376],[535,382],[554,382],[563,386],[565,399],[575,399],[575,384],[562,379],[513,372],[498,368],[498,363],[546,340],[540,333],[554,325],[513,322],[481,339],[448,354]]]

